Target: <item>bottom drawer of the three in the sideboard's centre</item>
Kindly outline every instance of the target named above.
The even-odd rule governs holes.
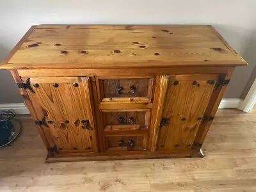
[[[113,136],[105,137],[106,150],[135,151],[147,150],[147,136]]]

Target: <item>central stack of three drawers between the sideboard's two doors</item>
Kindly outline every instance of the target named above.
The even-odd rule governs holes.
[[[148,150],[154,76],[97,77],[104,150]]]

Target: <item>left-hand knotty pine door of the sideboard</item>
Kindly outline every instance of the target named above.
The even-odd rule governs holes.
[[[97,152],[88,77],[22,77],[52,153]]]

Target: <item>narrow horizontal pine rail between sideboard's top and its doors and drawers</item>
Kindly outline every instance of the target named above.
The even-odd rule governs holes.
[[[184,74],[227,74],[232,67],[163,67],[163,68],[89,68],[89,69],[68,69],[68,76],[160,76],[160,75],[184,75]],[[21,77],[66,77],[67,69],[26,69],[17,70]]]

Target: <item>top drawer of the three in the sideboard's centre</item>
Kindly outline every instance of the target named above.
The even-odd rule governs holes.
[[[154,77],[99,77],[99,102],[152,102]]]

